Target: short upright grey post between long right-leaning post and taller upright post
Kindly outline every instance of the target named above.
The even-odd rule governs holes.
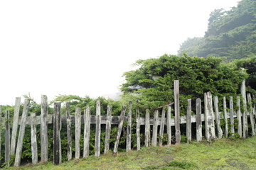
[[[31,152],[32,164],[38,163],[38,149],[36,140],[36,113],[31,113]]]

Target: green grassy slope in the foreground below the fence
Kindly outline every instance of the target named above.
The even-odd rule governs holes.
[[[9,169],[256,169],[256,137],[142,147],[139,152],[90,156],[58,166],[48,162]]]

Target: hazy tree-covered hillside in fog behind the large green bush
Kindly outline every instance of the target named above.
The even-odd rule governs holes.
[[[178,55],[241,59],[256,54],[256,1],[242,0],[230,11],[215,9],[203,38],[188,38]]]

